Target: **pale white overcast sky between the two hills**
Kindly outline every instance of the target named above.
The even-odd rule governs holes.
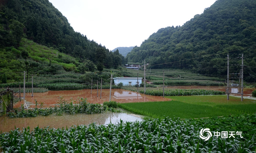
[[[71,27],[109,50],[140,46],[158,29],[182,26],[216,0],[49,0]]]

